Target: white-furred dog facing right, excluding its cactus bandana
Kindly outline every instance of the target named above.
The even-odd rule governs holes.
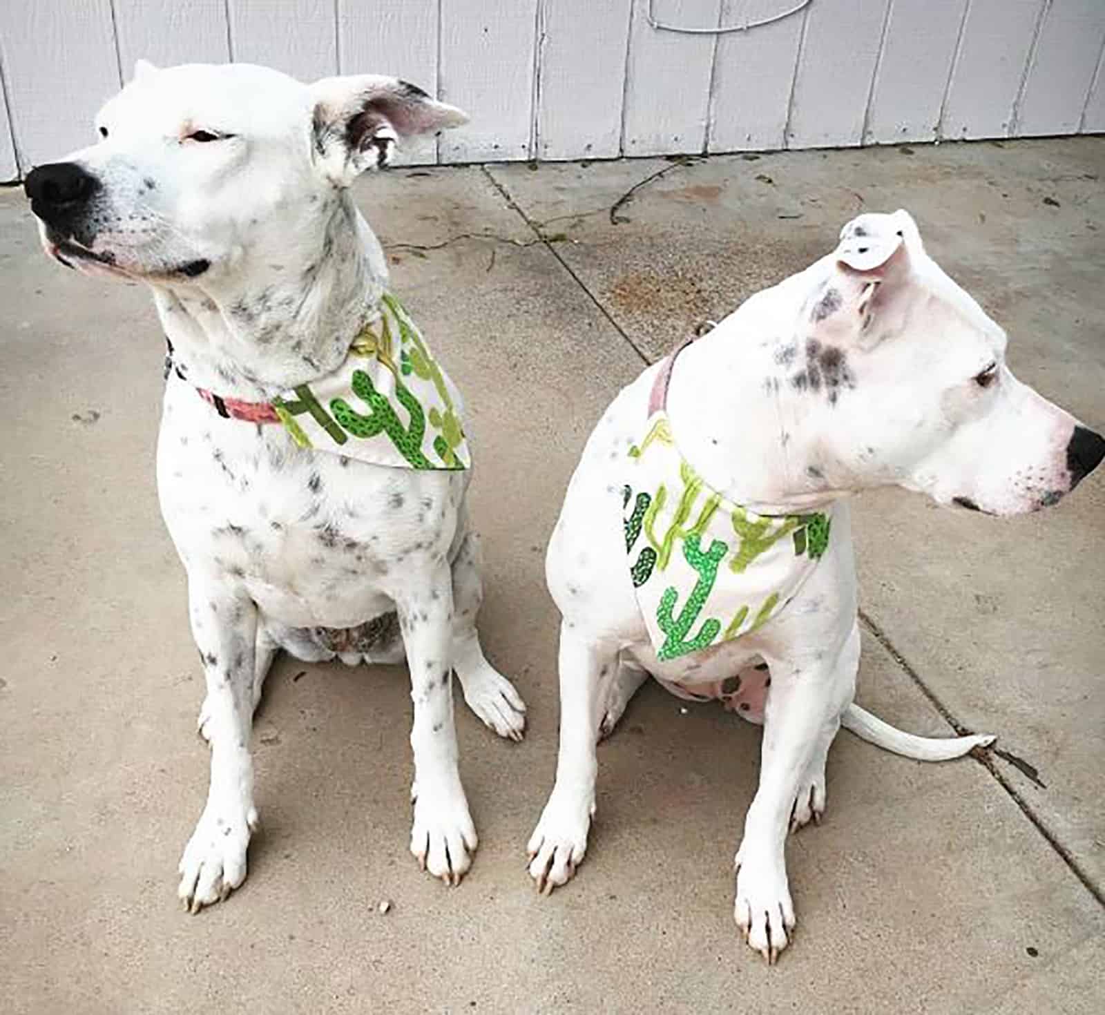
[[[1001,329],[925,254],[905,212],[862,215],[833,254],[753,296],[680,355],[667,411],[698,475],[759,512],[815,510],[888,484],[941,504],[1028,511],[1081,478],[1067,471],[1075,421],[1013,378],[1004,349]],[[912,737],[853,704],[860,632],[846,504],[813,575],[764,627],[656,658],[629,575],[619,469],[642,435],[659,370],[625,388],[596,426],[549,543],[548,584],[562,615],[560,751],[529,871],[549,891],[582,860],[596,740],[642,670],[693,687],[751,679],[764,660],[766,708],[750,717],[765,723],[762,762],[736,856],[735,914],[774,962],[794,927],[786,834],[823,812],[825,758],[841,723],[915,758],[956,757],[992,738]]]

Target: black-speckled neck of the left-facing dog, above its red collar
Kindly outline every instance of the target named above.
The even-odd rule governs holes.
[[[269,401],[336,369],[376,310],[387,267],[346,191],[248,269],[155,284],[161,325],[186,380],[224,398]],[[291,232],[291,231],[290,231]]]

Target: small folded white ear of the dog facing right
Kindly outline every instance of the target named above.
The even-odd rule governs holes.
[[[907,211],[867,213],[846,223],[833,252],[835,271],[810,309],[814,329],[838,339],[869,332],[920,252],[920,234]]]

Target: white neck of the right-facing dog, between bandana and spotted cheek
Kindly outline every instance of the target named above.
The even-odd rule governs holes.
[[[807,341],[797,324],[768,338],[738,314],[678,355],[667,391],[681,454],[728,499],[765,515],[823,509],[855,490],[827,457],[824,400],[796,390]]]

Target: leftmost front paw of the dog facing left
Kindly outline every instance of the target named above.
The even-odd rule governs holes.
[[[189,912],[220,902],[245,880],[245,850],[257,812],[223,813],[208,804],[180,858],[177,895]]]

